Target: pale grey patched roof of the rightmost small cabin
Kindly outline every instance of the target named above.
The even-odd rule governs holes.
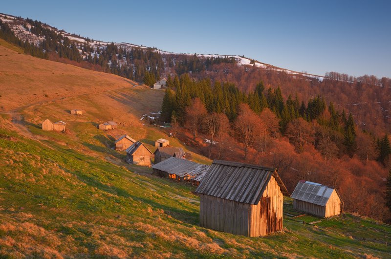
[[[333,191],[333,187],[301,180],[293,191],[292,198],[320,206],[326,206]]]

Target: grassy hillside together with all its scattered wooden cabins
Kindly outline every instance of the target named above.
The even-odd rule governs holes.
[[[281,169],[211,160],[154,125],[167,79],[146,86],[0,43],[0,72],[18,71],[12,90],[0,81],[0,257],[390,256],[391,226],[345,212],[337,188],[300,179],[289,193]]]

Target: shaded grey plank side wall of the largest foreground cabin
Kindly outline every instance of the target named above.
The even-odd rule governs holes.
[[[199,225],[235,235],[249,235],[250,204],[200,195]]]

